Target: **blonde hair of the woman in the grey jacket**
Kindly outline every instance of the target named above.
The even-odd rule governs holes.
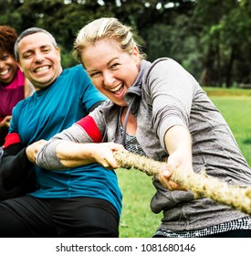
[[[74,42],[74,56],[80,61],[82,52],[89,44],[108,39],[115,40],[120,44],[120,48],[128,54],[132,53],[134,47],[140,48],[131,33],[131,27],[123,25],[115,17],[102,17],[90,22],[82,27]],[[145,54],[141,53],[141,59],[145,59]]]

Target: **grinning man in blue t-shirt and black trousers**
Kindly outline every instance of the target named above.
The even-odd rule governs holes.
[[[42,140],[67,129],[107,98],[82,65],[62,69],[56,40],[44,29],[25,30],[15,53],[36,91],[14,109],[0,177],[9,189],[34,167],[37,190],[0,204],[0,237],[118,237],[121,193],[114,171],[98,164],[53,171],[28,160]]]

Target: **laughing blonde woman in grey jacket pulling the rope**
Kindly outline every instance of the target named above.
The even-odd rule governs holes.
[[[209,176],[229,184],[251,184],[229,126],[193,76],[173,59],[145,60],[131,28],[116,18],[83,27],[75,53],[110,101],[55,135],[39,151],[37,164],[116,168],[112,152],[121,144],[155,160],[168,158],[153,180],[152,212],[163,213],[154,237],[251,237],[249,216],[208,198],[194,199],[169,180],[174,168],[199,173],[205,167]]]

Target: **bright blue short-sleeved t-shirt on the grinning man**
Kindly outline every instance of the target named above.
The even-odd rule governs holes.
[[[9,133],[17,133],[22,144],[48,140],[89,113],[98,101],[106,101],[92,85],[81,65],[64,69],[49,87],[19,101],[13,110]],[[82,165],[64,170],[38,166],[34,197],[98,197],[121,211],[121,192],[114,171],[101,165]]]

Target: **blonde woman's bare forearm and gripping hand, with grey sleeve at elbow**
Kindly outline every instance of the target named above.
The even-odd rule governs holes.
[[[98,163],[107,169],[118,167],[113,152],[124,147],[114,143],[78,144],[65,140],[48,142],[36,157],[37,165],[47,169],[60,169]]]

